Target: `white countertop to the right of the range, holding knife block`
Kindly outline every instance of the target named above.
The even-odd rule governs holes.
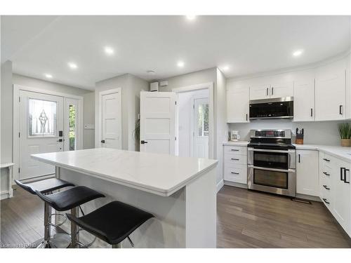
[[[293,144],[296,149],[323,151],[336,158],[343,159],[351,163],[351,147],[315,145],[315,144]]]

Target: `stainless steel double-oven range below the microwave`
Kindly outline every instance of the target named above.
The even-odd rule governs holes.
[[[296,149],[291,130],[251,130],[248,188],[296,196]]]

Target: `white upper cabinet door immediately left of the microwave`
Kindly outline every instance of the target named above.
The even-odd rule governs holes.
[[[227,123],[249,122],[249,87],[227,90]]]

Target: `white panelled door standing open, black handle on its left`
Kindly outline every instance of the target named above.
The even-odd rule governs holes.
[[[176,154],[176,93],[140,93],[140,151]]]

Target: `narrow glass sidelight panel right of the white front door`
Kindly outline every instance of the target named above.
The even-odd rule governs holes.
[[[65,98],[65,151],[82,149],[80,103],[80,100],[69,97]]]

